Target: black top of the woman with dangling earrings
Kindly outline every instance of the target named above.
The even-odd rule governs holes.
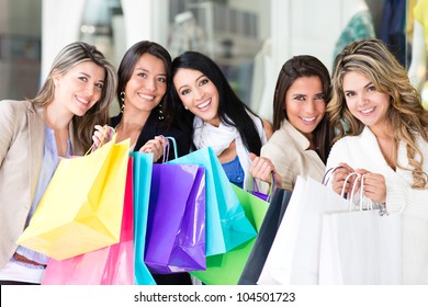
[[[119,115],[110,118],[110,126],[115,127],[119,125],[119,123],[122,120],[122,113]],[[171,136],[176,139],[177,143],[177,152],[178,156],[184,156],[189,154],[190,146],[191,146],[191,138],[189,135],[183,133],[181,129],[177,128],[176,126],[170,126],[169,128],[166,128],[162,125],[162,122],[159,121],[158,115],[156,112],[151,112],[150,115],[147,118],[146,124],[144,125],[142,133],[138,136],[138,139],[135,144],[134,151],[138,151],[148,140],[154,139],[155,136],[162,135],[165,137]],[[174,157],[173,148],[170,146],[169,148],[169,158],[168,160],[176,159],[178,157]],[[157,161],[158,163],[162,162],[162,159],[159,159]]]

